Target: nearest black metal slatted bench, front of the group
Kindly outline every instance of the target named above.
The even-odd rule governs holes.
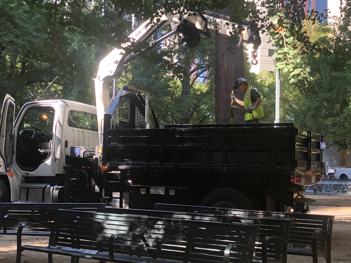
[[[252,262],[257,225],[59,210],[47,247],[22,245],[17,234],[16,263],[26,250],[96,259],[100,262]]]

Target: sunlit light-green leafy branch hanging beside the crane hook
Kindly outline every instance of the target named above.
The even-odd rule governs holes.
[[[322,22],[324,14],[313,11],[310,15],[305,15],[305,2],[306,0],[261,1],[260,6],[266,11],[253,14],[253,18],[260,20],[263,32],[269,33],[272,45],[277,48],[274,52],[277,68],[283,73],[289,73],[290,83],[304,81],[307,85],[312,80],[311,69],[301,60],[301,55],[313,48],[313,45],[304,21],[314,25]]]

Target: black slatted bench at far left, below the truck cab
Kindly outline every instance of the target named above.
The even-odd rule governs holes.
[[[24,222],[40,223],[47,227],[27,228],[22,235],[49,236],[56,213],[59,209],[81,211],[101,211],[102,203],[0,203],[0,234],[16,235],[17,229]]]

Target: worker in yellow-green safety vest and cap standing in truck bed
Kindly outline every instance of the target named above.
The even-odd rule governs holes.
[[[234,94],[230,96],[234,102],[245,107],[244,123],[259,123],[259,119],[264,117],[260,94],[258,94],[256,89],[249,87],[249,84],[243,77],[240,77],[235,82],[234,89],[245,92],[244,101],[239,100]]]

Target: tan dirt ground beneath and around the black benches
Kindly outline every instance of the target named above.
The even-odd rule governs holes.
[[[334,215],[335,220],[332,232],[332,262],[351,263],[351,196],[307,196],[316,200],[310,205],[311,214]],[[47,237],[24,237],[23,244],[47,245]],[[66,256],[53,256],[54,262],[70,262]],[[0,235],[0,262],[16,262],[16,236]],[[45,263],[47,256],[44,253],[24,251],[22,263]],[[81,263],[98,262],[90,259],[80,259]],[[312,263],[312,257],[288,255],[288,263],[306,262]],[[318,262],[325,262],[324,258],[318,258]]]

